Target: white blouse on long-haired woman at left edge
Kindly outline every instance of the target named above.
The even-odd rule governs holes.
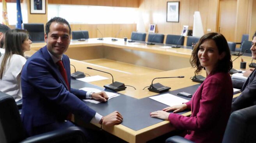
[[[0,64],[3,58],[4,55],[0,57]],[[9,59],[7,59],[2,79],[0,79],[0,91],[11,95],[15,101],[19,101],[22,98],[20,73],[27,60],[17,54],[13,54]]]

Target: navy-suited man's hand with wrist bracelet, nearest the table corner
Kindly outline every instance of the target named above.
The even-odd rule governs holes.
[[[102,124],[105,126],[113,126],[116,124],[120,124],[123,121],[123,116],[115,111],[103,118]]]

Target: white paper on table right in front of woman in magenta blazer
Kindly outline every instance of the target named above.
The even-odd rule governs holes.
[[[180,105],[182,103],[186,103],[189,100],[180,98],[178,96],[174,96],[172,94],[166,93],[158,96],[149,97],[150,99],[153,99],[155,101],[158,101],[160,103],[163,103],[168,106],[174,106],[174,105]]]

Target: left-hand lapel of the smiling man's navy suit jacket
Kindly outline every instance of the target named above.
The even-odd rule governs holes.
[[[59,80],[59,81],[61,82],[61,84],[63,84],[63,85],[66,87],[66,89],[68,90],[69,88],[68,88],[68,86],[67,86],[67,84],[66,84],[64,78],[62,77],[62,75],[61,75],[61,73],[60,73],[60,71],[59,71],[58,66],[53,62],[52,57],[51,57],[50,54],[48,53],[47,47],[44,46],[44,47],[42,48],[42,50],[43,50],[42,52],[43,52],[44,58],[48,61],[48,63],[49,63],[49,65],[51,66],[52,70],[57,74],[57,77],[59,78],[58,80]]]

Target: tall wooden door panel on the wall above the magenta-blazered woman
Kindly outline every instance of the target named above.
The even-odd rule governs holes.
[[[219,6],[219,33],[224,35],[227,41],[235,41],[237,0],[220,0]]]

